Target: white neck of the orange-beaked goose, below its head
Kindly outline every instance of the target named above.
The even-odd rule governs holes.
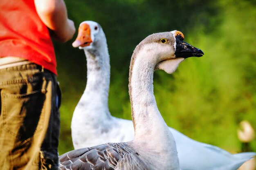
[[[85,55],[87,60],[87,84],[78,107],[90,108],[94,111],[93,116],[98,116],[101,120],[110,116],[108,109],[110,58],[106,41],[101,43],[97,51],[85,50]],[[101,112],[98,115],[95,114],[97,110]],[[90,116],[92,113],[85,110],[83,114]]]

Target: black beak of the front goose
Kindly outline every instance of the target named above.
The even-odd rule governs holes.
[[[176,38],[176,50],[174,54],[176,57],[188,58],[188,57],[202,57],[204,55],[202,50],[197,49],[194,46],[191,46],[190,44],[184,42],[181,35],[176,35],[175,38]]]

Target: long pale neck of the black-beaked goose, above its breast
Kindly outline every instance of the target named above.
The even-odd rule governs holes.
[[[169,131],[168,126],[159,113],[153,93],[153,73],[155,66],[151,65],[150,62],[143,61],[145,59],[138,56],[132,68],[130,68],[132,71],[129,91],[132,106],[132,121],[135,126],[134,141],[140,141],[141,138],[150,139],[151,137],[155,137],[155,135],[165,139],[165,131]]]

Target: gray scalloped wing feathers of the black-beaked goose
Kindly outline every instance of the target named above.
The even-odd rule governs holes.
[[[108,143],[81,148],[59,157],[60,170],[114,170],[124,155],[133,155],[126,143]]]

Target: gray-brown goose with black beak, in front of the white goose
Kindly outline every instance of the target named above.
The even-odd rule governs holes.
[[[157,33],[135,48],[129,73],[134,139],[67,152],[59,157],[60,169],[180,170],[175,140],[156,105],[153,72],[163,69],[173,73],[184,57],[203,55],[201,50],[192,49],[182,40],[179,31]],[[178,43],[184,45],[182,49],[191,47],[186,56],[180,57],[182,49],[175,50]],[[76,44],[79,43],[73,45]]]

